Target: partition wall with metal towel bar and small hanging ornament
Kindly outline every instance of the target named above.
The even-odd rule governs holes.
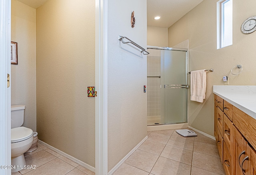
[[[108,171],[147,135],[146,55],[118,40],[124,35],[146,48],[145,4],[146,0],[108,1]],[[133,10],[136,24],[131,28],[127,16]]]

